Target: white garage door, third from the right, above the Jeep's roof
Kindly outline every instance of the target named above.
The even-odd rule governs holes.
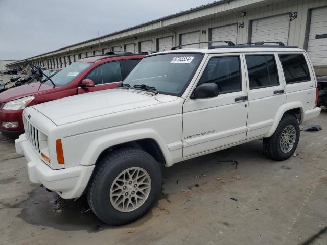
[[[211,41],[232,41],[236,43],[237,40],[237,24],[230,24],[229,26],[217,27],[211,29]],[[212,45],[226,45],[225,43],[213,43]]]

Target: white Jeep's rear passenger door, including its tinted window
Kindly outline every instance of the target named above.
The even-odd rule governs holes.
[[[281,68],[274,53],[245,53],[248,119],[247,139],[267,134],[278,108],[286,102]]]

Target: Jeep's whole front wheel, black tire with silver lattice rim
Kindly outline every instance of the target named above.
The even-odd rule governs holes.
[[[97,162],[87,201],[104,223],[123,225],[142,217],[160,191],[159,163],[142,150],[122,148],[108,152]]]

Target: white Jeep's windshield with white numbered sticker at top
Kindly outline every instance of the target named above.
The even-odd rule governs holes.
[[[203,55],[160,54],[144,58],[124,80],[124,84],[155,87],[159,93],[181,96],[193,78]]]

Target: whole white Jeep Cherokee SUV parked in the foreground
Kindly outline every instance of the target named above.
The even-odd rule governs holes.
[[[229,45],[146,56],[118,89],[24,110],[17,153],[29,179],[62,198],[84,192],[108,224],[144,215],[161,191],[161,166],[263,139],[267,156],[292,156],[299,124],[317,117],[317,82],[304,50]]]

